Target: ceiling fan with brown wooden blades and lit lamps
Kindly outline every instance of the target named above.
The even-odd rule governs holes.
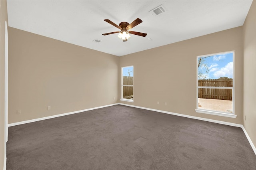
[[[142,33],[142,32],[128,31],[128,30],[132,29],[133,27],[135,27],[136,25],[142,23],[142,20],[140,18],[137,18],[131,24],[129,24],[128,22],[121,22],[119,24],[119,26],[108,19],[106,19],[104,21],[108,22],[112,26],[115,26],[116,28],[119,28],[121,31],[105,33],[105,34],[102,34],[103,36],[119,33],[118,38],[122,39],[123,42],[127,42],[127,39],[130,38],[129,34],[134,34],[134,35],[142,36],[142,37],[146,37],[146,35],[147,35],[146,33]]]

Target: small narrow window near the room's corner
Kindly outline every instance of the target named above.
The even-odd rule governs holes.
[[[122,67],[122,101],[133,102],[133,66]]]

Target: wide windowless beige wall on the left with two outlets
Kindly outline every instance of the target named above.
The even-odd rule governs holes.
[[[116,103],[118,65],[117,56],[9,27],[8,123]]]

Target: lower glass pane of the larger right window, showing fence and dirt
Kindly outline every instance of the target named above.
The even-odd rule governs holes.
[[[198,109],[232,113],[232,89],[198,89]]]

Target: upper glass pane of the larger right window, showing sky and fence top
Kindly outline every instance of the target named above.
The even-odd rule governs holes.
[[[198,86],[233,87],[233,52],[198,57]]]

